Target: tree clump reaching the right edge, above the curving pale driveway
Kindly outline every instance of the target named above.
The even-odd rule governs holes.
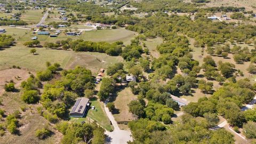
[[[255,87],[248,79],[225,83],[215,91],[211,98],[201,98],[198,102],[190,102],[183,110],[195,117],[205,117],[206,114],[218,114],[225,117],[228,123],[242,126],[246,120],[251,120],[251,111],[246,112],[247,118],[241,111],[244,103],[254,98]],[[217,116],[217,115],[216,115]]]

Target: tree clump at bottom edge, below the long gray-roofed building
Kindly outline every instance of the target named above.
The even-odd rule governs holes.
[[[64,135],[61,143],[105,143],[105,130],[95,123],[79,124],[64,121],[57,124],[57,130]]]

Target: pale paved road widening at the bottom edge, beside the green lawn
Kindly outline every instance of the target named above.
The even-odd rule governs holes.
[[[125,131],[125,130],[119,129],[114,116],[111,114],[111,112],[106,107],[106,103],[104,105],[104,109],[105,109],[106,114],[107,114],[108,118],[110,119],[112,125],[114,126],[113,132],[109,132],[109,131],[105,132],[105,134],[107,135],[107,143],[122,144],[122,143],[126,143],[127,141],[132,141],[131,131]]]

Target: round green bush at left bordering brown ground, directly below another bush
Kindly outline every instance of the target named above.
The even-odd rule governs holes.
[[[36,103],[39,100],[38,92],[36,90],[25,91],[21,95],[21,99],[26,103]]]

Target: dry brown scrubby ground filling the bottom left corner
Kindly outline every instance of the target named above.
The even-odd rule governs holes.
[[[49,126],[50,130],[53,131],[52,136],[45,140],[39,140],[35,136],[35,131],[42,129],[46,125],[49,125],[49,122],[44,119],[42,116],[37,114],[36,105],[26,105],[21,101],[20,93],[4,93],[0,96],[3,99],[3,105],[0,108],[3,108],[6,112],[5,114],[11,114],[14,110],[20,110],[21,106],[26,106],[26,111],[21,111],[19,121],[19,134],[13,135],[5,131],[5,135],[0,137],[0,143],[59,143],[62,134],[57,130],[54,130]],[[3,118],[5,121],[5,118]],[[5,123],[1,121],[1,123]]]

